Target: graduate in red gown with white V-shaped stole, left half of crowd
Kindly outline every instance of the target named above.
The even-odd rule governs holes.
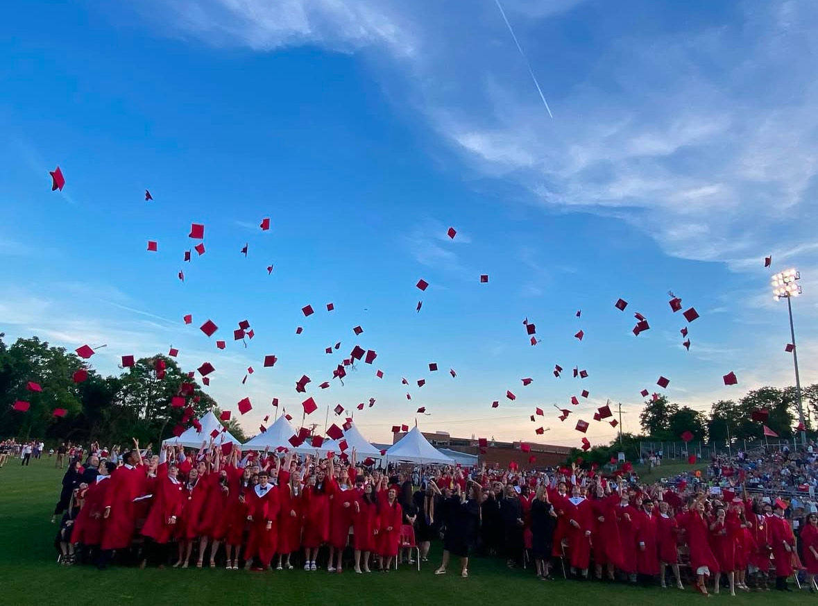
[[[278,489],[270,483],[267,470],[258,472],[258,484],[249,491],[247,521],[250,534],[245,549],[245,569],[255,563],[257,570],[272,569],[270,563],[278,546]]]

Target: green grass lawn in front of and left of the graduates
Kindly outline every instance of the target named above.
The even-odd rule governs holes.
[[[21,468],[11,460],[0,469],[0,604],[520,604],[547,599],[582,604],[658,603],[663,606],[703,600],[693,590],[661,590],[600,585],[596,582],[537,581],[530,570],[509,571],[497,559],[474,559],[470,577],[450,573],[434,577],[439,561],[420,572],[403,566],[398,572],[358,576],[326,571],[228,572],[223,569],[188,570],[56,565],[53,540],[56,527],[49,522],[59,495],[62,472],[53,462],[33,461]],[[450,568],[457,571],[457,565]],[[522,595],[520,592],[523,592]],[[467,593],[466,593],[467,592]],[[456,596],[460,596],[459,598]],[[723,594],[708,603],[808,604],[818,599],[807,592],[781,594]]]

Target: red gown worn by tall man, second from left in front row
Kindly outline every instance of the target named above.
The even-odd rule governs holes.
[[[123,465],[110,474],[110,486],[102,509],[110,507],[102,531],[102,549],[127,549],[131,546],[136,528],[133,500],[142,493],[145,470],[141,465],[128,468]]]

